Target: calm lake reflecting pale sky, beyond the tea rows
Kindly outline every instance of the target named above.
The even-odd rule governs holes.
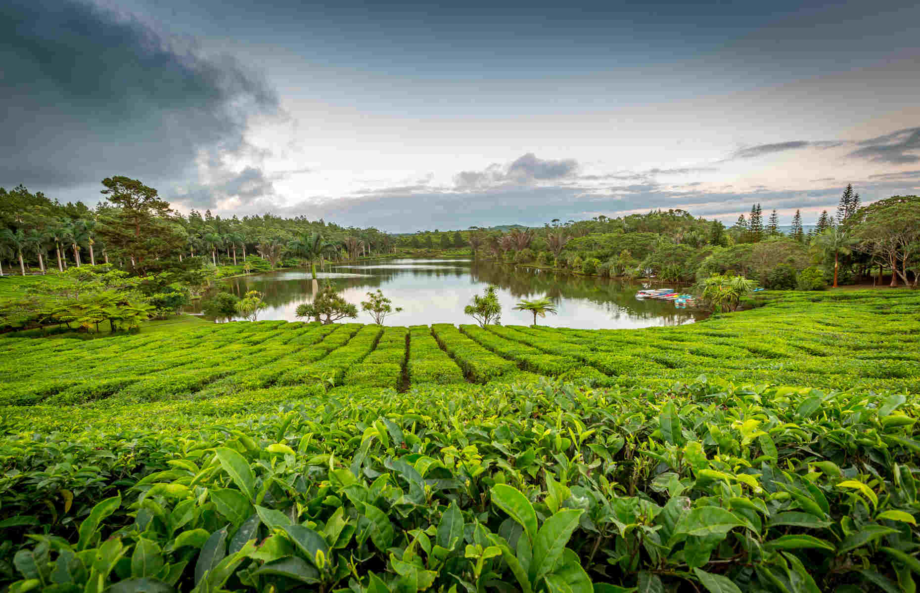
[[[366,292],[380,289],[403,312],[386,318],[385,325],[430,325],[436,323],[472,324],[463,313],[474,294],[482,294],[489,284],[496,285],[501,301],[501,323],[530,325],[533,314],[513,311],[522,299],[548,296],[556,302],[558,314],[537,318],[539,325],[585,329],[635,329],[655,325],[682,325],[701,319],[704,314],[675,309],[673,302],[638,301],[641,282],[603,279],[514,267],[498,262],[455,259],[386,259],[352,264],[327,264],[317,267],[317,286],[325,279],[334,282],[348,302],[358,305],[353,321],[372,323],[361,312]],[[221,290],[242,296],[246,291],[261,291],[269,308],[259,320],[298,320],[294,310],[313,299],[316,287],[309,269],[289,269],[219,282]],[[192,313],[198,313],[196,309]]]

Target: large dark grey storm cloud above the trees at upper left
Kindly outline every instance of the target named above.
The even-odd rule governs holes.
[[[247,116],[277,110],[233,58],[132,17],[73,0],[0,5],[0,186],[187,180],[202,155],[219,167],[247,150]]]

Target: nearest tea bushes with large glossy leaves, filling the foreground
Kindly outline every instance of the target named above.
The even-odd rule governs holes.
[[[868,592],[920,575],[903,393],[544,381],[5,412],[14,592]]]

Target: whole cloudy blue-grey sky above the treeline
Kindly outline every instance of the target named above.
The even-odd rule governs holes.
[[[444,6],[436,6],[442,4]],[[6,0],[0,187],[407,233],[920,194],[920,4]]]

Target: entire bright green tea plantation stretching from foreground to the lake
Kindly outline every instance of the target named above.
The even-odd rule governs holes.
[[[10,591],[914,591],[920,292],[0,339]]]

